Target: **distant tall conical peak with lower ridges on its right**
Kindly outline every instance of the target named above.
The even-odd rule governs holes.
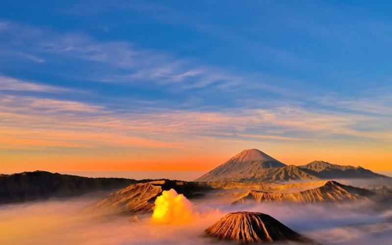
[[[362,167],[314,161],[302,166],[286,165],[258,149],[243,150],[195,181],[311,181],[341,178],[382,178],[388,176]]]

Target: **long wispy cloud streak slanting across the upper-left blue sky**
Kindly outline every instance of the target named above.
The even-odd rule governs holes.
[[[174,90],[206,88],[227,91],[248,88],[253,84],[260,91],[281,92],[280,88],[266,80],[205,66],[165,51],[143,49],[131,42],[104,42],[76,32],[56,33],[15,23],[4,25],[6,27],[1,31],[8,38],[0,38],[4,47],[0,52],[37,63],[46,62],[48,57],[82,62],[83,69],[78,74],[68,74],[70,78],[130,85],[149,82]]]

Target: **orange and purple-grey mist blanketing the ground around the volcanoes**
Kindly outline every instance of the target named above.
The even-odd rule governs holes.
[[[200,245],[215,244],[203,231],[234,211],[269,214],[294,231],[324,245],[387,245],[392,240],[392,210],[374,203],[224,205],[211,199],[193,203],[193,219],[156,224],[151,215],[105,216],[84,212],[97,198],[49,200],[0,207],[0,244],[7,245]],[[221,244],[219,242],[218,244]]]

